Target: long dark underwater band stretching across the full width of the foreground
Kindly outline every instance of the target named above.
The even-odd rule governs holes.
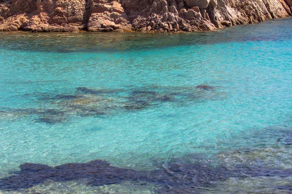
[[[251,169],[250,167],[237,166],[234,170],[230,170],[223,165],[209,166],[200,161],[183,163],[177,160],[162,164],[162,167],[159,170],[144,172],[114,167],[102,160],[87,163],[66,163],[55,167],[24,163],[20,165],[20,171],[14,172],[14,175],[0,179],[0,190],[27,189],[48,180],[62,182],[82,179],[91,186],[120,184],[124,181],[146,181],[160,185],[161,189],[156,191],[158,193],[197,194],[197,188],[212,187],[218,181],[224,181],[230,177],[292,176],[292,169],[267,169],[265,167]]]

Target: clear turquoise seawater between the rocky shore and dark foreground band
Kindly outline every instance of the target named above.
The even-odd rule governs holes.
[[[261,178],[257,187],[265,174],[244,171],[247,179],[218,178],[212,191],[246,181],[257,192],[291,191],[291,21],[204,33],[1,33],[0,177],[25,162],[99,159],[137,172],[239,163],[288,170],[288,183]]]

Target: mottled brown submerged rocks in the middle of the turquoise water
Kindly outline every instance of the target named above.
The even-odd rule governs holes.
[[[77,87],[73,94],[41,95],[39,102],[50,109],[5,109],[0,110],[0,119],[8,117],[33,117],[37,123],[56,124],[67,121],[70,116],[104,117],[125,111],[141,111],[165,103],[184,104],[185,101],[200,102],[212,99],[213,86],[161,87],[123,89],[91,89]],[[206,90],[206,91],[205,91]],[[211,95],[211,96],[210,96]],[[13,116],[14,115],[14,116]]]

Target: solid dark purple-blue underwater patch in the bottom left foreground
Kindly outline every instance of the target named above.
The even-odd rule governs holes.
[[[90,178],[94,185],[121,183],[138,179],[134,170],[112,167],[108,162],[95,160],[87,163],[66,163],[56,167],[24,163],[16,175],[0,179],[0,190],[15,191],[30,188],[47,180],[57,182]]]

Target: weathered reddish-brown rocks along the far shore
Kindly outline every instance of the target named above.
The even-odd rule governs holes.
[[[208,31],[292,15],[292,0],[0,0],[0,31]]]

